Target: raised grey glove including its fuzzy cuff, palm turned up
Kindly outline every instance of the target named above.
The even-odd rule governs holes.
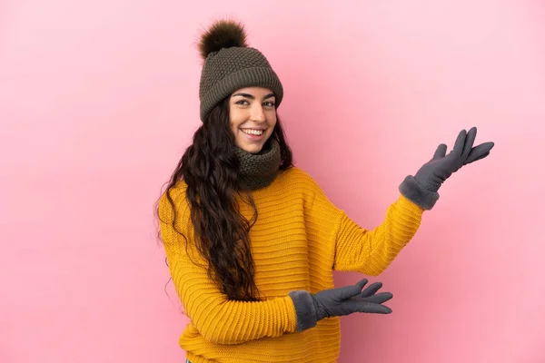
[[[441,143],[433,158],[421,166],[414,176],[408,175],[400,185],[401,194],[407,199],[430,210],[439,199],[439,188],[453,172],[457,172],[463,165],[476,162],[490,154],[494,142],[484,142],[473,147],[477,128],[472,127],[466,133],[462,130],[449,154],[447,145]]]

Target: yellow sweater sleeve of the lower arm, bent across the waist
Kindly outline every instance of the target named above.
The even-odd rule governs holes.
[[[216,344],[240,344],[295,332],[297,317],[289,296],[256,302],[230,300],[209,279],[207,262],[194,248],[189,208],[181,194],[184,197],[184,193],[178,193],[173,199],[176,229],[183,236],[173,229],[173,212],[165,195],[159,204],[159,215],[173,284],[193,326],[204,339]]]

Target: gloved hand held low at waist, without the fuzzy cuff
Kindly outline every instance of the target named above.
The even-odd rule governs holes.
[[[367,279],[363,279],[352,286],[325,289],[311,294],[316,308],[316,319],[340,317],[354,312],[390,314],[391,309],[382,304],[393,297],[391,292],[377,294],[382,287],[381,282],[374,282],[362,291],[367,282]]]

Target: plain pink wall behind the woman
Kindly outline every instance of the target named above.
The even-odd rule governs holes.
[[[340,362],[545,361],[545,6],[538,1],[0,2],[0,362],[181,362],[153,204],[198,120],[204,26],[280,74],[297,164],[363,227],[461,128],[441,188],[342,319]],[[356,274],[337,274],[339,285]]]

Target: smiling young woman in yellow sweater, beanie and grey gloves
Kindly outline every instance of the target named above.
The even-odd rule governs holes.
[[[388,314],[389,292],[363,279],[335,289],[333,270],[377,276],[412,239],[441,183],[490,152],[461,131],[453,150],[400,185],[372,231],[327,199],[292,165],[277,109],[282,83],[243,25],[214,23],[202,36],[203,124],[159,201],[173,284],[190,323],[187,361],[335,362],[339,317]]]

